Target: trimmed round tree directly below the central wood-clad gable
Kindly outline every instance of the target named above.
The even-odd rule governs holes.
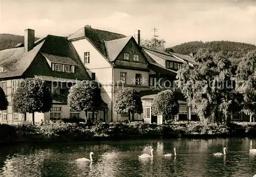
[[[134,88],[120,90],[116,96],[114,112],[117,114],[128,114],[129,120],[131,119],[130,113],[132,113],[134,120],[135,113],[141,114],[143,112],[139,92]]]

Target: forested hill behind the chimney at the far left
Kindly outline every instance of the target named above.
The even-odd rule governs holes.
[[[37,40],[39,38],[35,38]],[[18,43],[24,43],[24,36],[13,34],[0,34],[0,50],[13,48]]]

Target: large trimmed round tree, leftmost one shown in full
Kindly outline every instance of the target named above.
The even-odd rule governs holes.
[[[16,113],[32,113],[35,124],[35,112],[46,113],[52,107],[52,93],[47,84],[39,79],[28,78],[20,82],[13,95],[12,110]],[[26,120],[26,119],[25,119]]]

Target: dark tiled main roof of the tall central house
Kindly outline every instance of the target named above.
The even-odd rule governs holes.
[[[68,37],[68,40],[72,41],[72,40],[77,40],[77,39],[81,39],[81,38],[86,38],[88,39],[88,41],[98,50],[98,52],[106,59],[112,61],[115,59],[112,59],[113,56],[111,56],[111,59],[108,56],[108,49],[107,46],[110,48],[111,52],[113,51],[111,46],[111,42],[108,43],[108,41],[113,41],[116,39],[121,39],[121,38],[126,38],[125,35],[123,34],[118,34],[118,33],[113,33],[113,32],[109,32],[109,31],[104,31],[104,30],[98,30],[98,29],[93,29],[90,27],[83,27],[80,30],[78,30],[77,32],[75,32],[74,34],[70,35]],[[108,44],[106,44],[106,42]],[[113,45],[115,46],[116,44],[119,43],[125,43],[125,39],[124,41],[116,41],[116,42],[112,42]],[[117,52],[113,52],[114,54]],[[112,55],[112,54],[111,54]]]

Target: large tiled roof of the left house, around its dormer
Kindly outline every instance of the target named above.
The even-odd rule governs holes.
[[[49,56],[69,58],[78,64],[75,73],[52,71],[46,58],[41,53]],[[71,62],[69,60],[69,62]],[[34,47],[24,53],[24,47],[0,50],[0,66],[7,69],[0,73],[0,79],[9,77],[35,77],[35,75],[71,80],[90,80],[76,50],[66,37],[48,35],[35,42]]]

